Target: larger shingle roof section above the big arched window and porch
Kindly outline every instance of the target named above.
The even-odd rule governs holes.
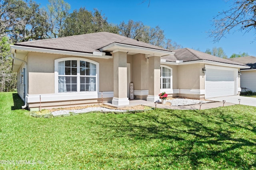
[[[150,45],[148,43],[136,41],[134,39],[124,37],[122,35],[108,32],[98,32],[54,39],[27,41],[22,43],[16,43],[14,45],[38,47],[44,49],[56,49],[63,51],[74,51],[82,53],[93,53],[94,51],[99,51],[100,48],[105,47],[106,45],[109,45],[111,43],[122,43],[138,47],[170,51],[161,47]]]

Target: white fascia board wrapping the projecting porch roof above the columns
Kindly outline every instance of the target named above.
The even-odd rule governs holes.
[[[105,47],[102,47],[100,51],[108,51],[110,48],[114,49],[126,49],[131,52],[136,53],[144,53],[148,55],[157,55],[157,56],[165,56],[165,55],[174,55],[174,52],[171,51],[164,51],[164,50],[158,50],[158,49],[151,49],[146,47],[139,47],[135,45],[127,45],[127,44],[120,44],[120,43],[111,43]]]

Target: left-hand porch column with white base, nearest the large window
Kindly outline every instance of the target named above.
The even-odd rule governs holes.
[[[114,98],[112,104],[129,105],[127,97],[127,51],[114,50]]]

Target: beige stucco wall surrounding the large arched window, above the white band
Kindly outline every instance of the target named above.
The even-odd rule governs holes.
[[[75,56],[28,53],[29,94],[54,93],[54,60]],[[81,58],[81,57],[78,57]],[[99,63],[99,91],[112,92],[113,59],[82,57]],[[39,90],[40,89],[40,90]]]

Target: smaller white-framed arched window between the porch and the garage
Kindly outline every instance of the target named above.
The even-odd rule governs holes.
[[[168,66],[161,66],[160,79],[161,89],[172,89],[172,68]]]

